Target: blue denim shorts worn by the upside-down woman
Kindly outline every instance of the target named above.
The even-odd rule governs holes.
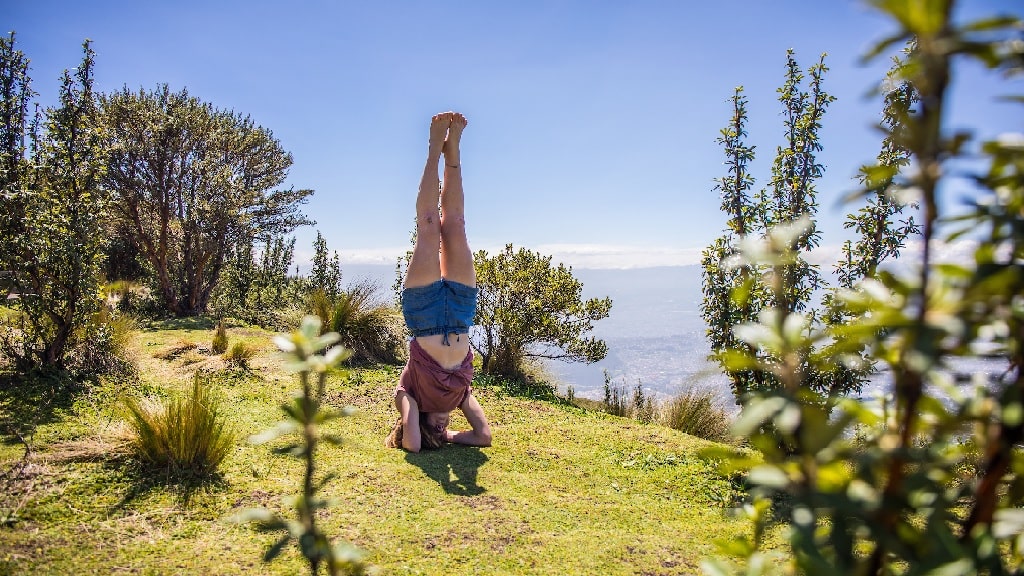
[[[401,291],[401,314],[413,336],[466,334],[476,316],[475,286],[440,279]]]

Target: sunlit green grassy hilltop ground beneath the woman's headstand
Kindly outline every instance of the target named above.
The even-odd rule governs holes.
[[[24,446],[4,437],[0,471],[10,471],[0,479],[0,511],[19,506],[19,520],[0,527],[0,574],[305,571],[294,547],[261,563],[275,537],[228,521],[252,506],[282,509],[299,490],[297,461],[244,440],[281,419],[296,379],[274,356],[272,334],[228,330],[259,349],[242,370],[206,351],[211,328],[169,322],[140,331],[138,381],[106,381],[53,404],[30,430],[28,462],[15,465]],[[242,439],[220,476],[168,481],[119,455],[119,398],[180,393],[198,369],[213,373]],[[321,472],[339,475],[324,490],[338,504],[323,527],[385,574],[693,574],[716,539],[749,530],[729,513],[734,487],[698,455],[705,441],[502,386],[475,390],[493,447],[387,449],[399,371],[355,370],[331,382],[330,403],[357,412],[332,424],[347,445],[318,453]],[[19,403],[53,400],[0,392],[15,415],[26,410]],[[466,425],[461,415],[454,425]]]

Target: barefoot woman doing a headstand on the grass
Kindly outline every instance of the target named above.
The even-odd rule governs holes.
[[[457,112],[431,118],[427,164],[416,197],[416,247],[401,296],[413,339],[394,393],[399,418],[386,441],[410,452],[440,448],[446,442],[490,446],[490,425],[470,386],[473,353],[467,334],[476,314],[477,290],[459,157],[465,127],[466,117]],[[437,163],[442,157],[444,180],[439,186]],[[472,429],[447,429],[456,408]]]

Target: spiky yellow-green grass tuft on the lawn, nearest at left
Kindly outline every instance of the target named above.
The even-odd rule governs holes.
[[[173,476],[212,476],[234,444],[208,374],[197,372],[185,397],[126,398],[129,449],[145,464]]]

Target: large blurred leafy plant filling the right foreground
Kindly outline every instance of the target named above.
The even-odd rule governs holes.
[[[1017,18],[995,17],[956,26],[951,0],[874,0],[900,32],[881,53],[912,40],[894,79],[920,96],[889,128],[893,142],[910,153],[913,170],[876,167],[879,177],[920,195],[923,254],[916,274],[881,273],[837,297],[847,323],[820,333],[810,320],[784,307],[737,326],[743,343],[727,354],[730,368],[760,370],[779,389],[744,403],[737,433],[764,454],[751,462],[749,482],[759,498],[748,507],[753,538],[725,550],[744,568],[723,560],[706,563],[711,574],[1021,574],[1024,572],[1024,146],[1015,134],[981,146],[986,171],[972,176],[979,200],[959,222],[977,239],[972,266],[932,261],[939,240],[938,191],[950,161],[964,156],[970,136],[948,134],[943,108],[954,57],[1020,72],[1024,47]],[[1016,100],[1024,101],[1017,97]],[[978,164],[976,164],[978,165]],[[872,176],[872,178],[874,178]],[[872,178],[869,178],[872,179]],[[874,178],[877,179],[877,178]],[[865,182],[868,191],[873,188]],[[800,223],[748,242],[740,258],[765,265],[776,280],[794,256]],[[775,282],[773,289],[779,290]],[[830,355],[811,354],[821,341]],[[950,368],[979,346],[1008,359],[1005,372],[976,375],[977,385]],[[753,355],[764,349],[769,355]],[[868,359],[892,374],[893,404],[876,409],[854,399],[823,398],[808,385],[815,370],[845,359]],[[965,389],[967,387],[967,389]],[[830,416],[829,416],[830,414]],[[733,465],[737,462],[733,461]],[[788,554],[771,554],[762,541],[773,513],[788,528]]]

